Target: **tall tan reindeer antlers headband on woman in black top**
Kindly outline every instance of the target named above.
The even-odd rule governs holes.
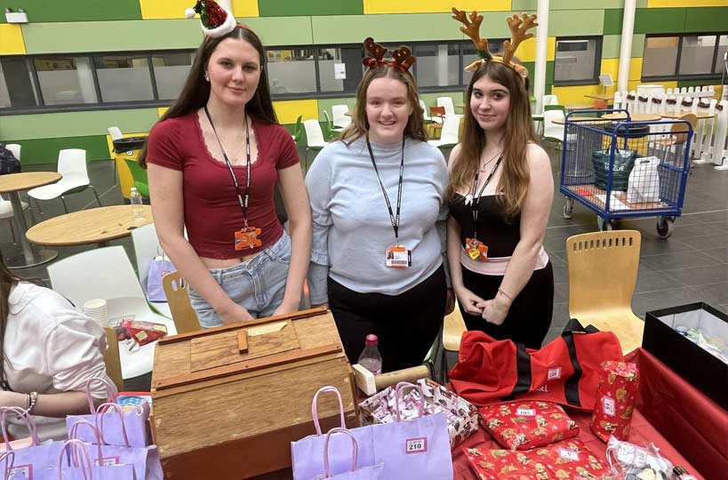
[[[506,19],[508,21],[508,29],[510,29],[511,39],[506,40],[503,44],[503,56],[494,57],[488,50],[488,39],[481,38],[480,36],[480,24],[483,22],[483,15],[478,15],[477,12],[470,13],[470,19],[464,11],[460,11],[455,7],[452,7],[452,18],[460,21],[465,27],[460,27],[460,31],[467,35],[476,45],[478,55],[481,60],[476,60],[465,69],[468,72],[475,71],[478,67],[483,65],[485,61],[497,61],[508,67],[516,70],[516,73],[523,78],[528,77],[528,70],[523,65],[514,63],[513,55],[516,53],[518,46],[524,40],[527,40],[533,36],[532,33],[528,33],[527,30],[533,27],[538,27],[536,23],[536,15],[522,14],[520,17],[515,13]]]

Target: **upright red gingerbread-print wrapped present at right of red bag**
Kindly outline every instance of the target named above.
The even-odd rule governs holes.
[[[610,436],[620,440],[629,437],[632,412],[635,410],[639,372],[636,364],[608,361],[602,364],[602,375],[596,387],[596,404],[589,427],[604,442]]]

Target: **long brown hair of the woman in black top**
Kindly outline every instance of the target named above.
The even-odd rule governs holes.
[[[498,200],[503,207],[503,218],[511,221],[521,212],[528,190],[530,180],[526,157],[528,144],[538,143],[539,140],[531,124],[531,104],[524,79],[516,73],[516,70],[502,63],[486,61],[470,79],[466,95],[468,106],[464,108],[465,124],[460,141],[460,155],[452,164],[450,185],[445,191],[445,196],[452,199],[458,190],[468,188],[472,184],[476,169],[480,167],[486,140],[484,130],[473,116],[469,103],[473,95],[473,84],[483,76],[488,76],[510,92],[510,108],[504,125],[503,160],[500,164],[502,172],[496,191],[501,194]]]

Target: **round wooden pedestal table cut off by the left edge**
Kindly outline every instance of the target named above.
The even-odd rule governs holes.
[[[20,191],[55,183],[61,177],[62,175],[58,172],[25,172],[0,175],[0,193],[10,195],[13,220],[15,220],[15,225],[18,226],[20,231],[20,246],[23,250],[22,254],[8,256],[5,260],[8,268],[33,267],[51,261],[58,256],[58,252],[35,249],[28,244],[26,239],[28,224],[25,221],[22,204],[20,204]]]

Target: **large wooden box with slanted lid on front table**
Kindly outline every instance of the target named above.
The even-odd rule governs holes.
[[[154,433],[166,478],[251,478],[291,465],[291,442],[315,434],[311,398],[339,389],[356,425],[353,378],[331,312],[316,308],[159,340]],[[340,426],[334,396],[324,431]]]

